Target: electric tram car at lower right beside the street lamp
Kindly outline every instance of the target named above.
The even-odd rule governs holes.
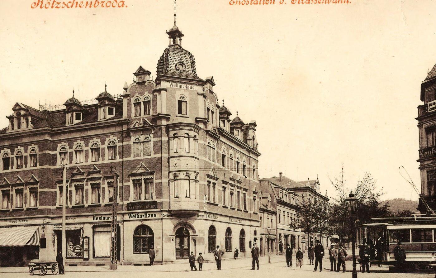
[[[358,244],[371,247],[371,264],[395,266],[394,248],[398,242],[406,253],[409,271],[436,271],[436,215],[373,218],[357,230]]]

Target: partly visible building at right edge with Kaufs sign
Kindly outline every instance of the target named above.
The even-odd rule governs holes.
[[[418,106],[419,170],[421,171],[421,193],[430,209],[436,211],[436,65],[421,83],[421,101]],[[427,209],[419,198],[418,209]]]

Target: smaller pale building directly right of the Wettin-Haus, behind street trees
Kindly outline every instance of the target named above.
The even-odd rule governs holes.
[[[296,227],[296,218],[298,217],[298,195],[289,188],[283,187],[279,183],[283,180],[283,173],[279,173],[279,179],[271,181],[268,178],[262,178],[260,189],[269,190],[270,194],[276,199],[276,223],[277,223],[277,245],[279,253],[286,251],[289,244],[293,249],[300,247],[301,230]]]

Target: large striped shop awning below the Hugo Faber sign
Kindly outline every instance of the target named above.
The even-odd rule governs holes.
[[[0,228],[0,247],[39,246],[39,227]]]

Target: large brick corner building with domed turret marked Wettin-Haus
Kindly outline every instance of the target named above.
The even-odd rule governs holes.
[[[214,260],[216,245],[224,259],[235,247],[250,256],[259,231],[256,124],[218,104],[213,77],[197,76],[175,22],[167,35],[154,81],[140,66],[119,94],[105,86],[92,101],[73,92],[60,106],[14,105],[0,132],[1,266],[54,261],[62,248],[67,265],[108,264],[115,190],[123,264],[148,264],[151,245],[163,264],[191,251]]]

